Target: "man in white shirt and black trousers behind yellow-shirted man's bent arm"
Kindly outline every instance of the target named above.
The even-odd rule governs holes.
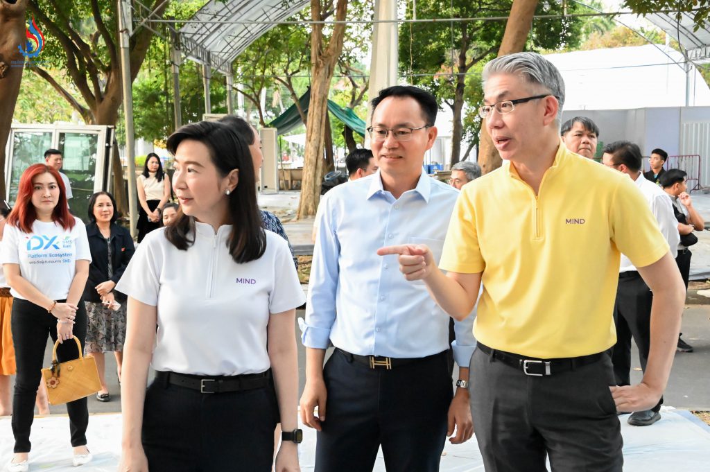
[[[625,173],[633,180],[638,190],[648,202],[651,213],[658,221],[663,237],[670,246],[670,253],[676,256],[680,235],[678,223],[673,213],[671,199],[641,172],[641,150],[629,141],[616,141],[604,146],[602,163],[609,168]],[[631,261],[621,255],[616,304],[614,304],[614,322],[616,324],[616,345],[611,361],[618,385],[630,385],[631,337],[638,346],[641,368],[646,370],[650,347],[650,320],[653,294]],[[633,412],[628,424],[649,426],[657,422],[663,397],[651,410]]]

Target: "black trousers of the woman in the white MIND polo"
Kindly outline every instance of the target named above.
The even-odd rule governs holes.
[[[271,472],[277,422],[273,386],[209,394],[155,380],[143,407],[148,468]]]

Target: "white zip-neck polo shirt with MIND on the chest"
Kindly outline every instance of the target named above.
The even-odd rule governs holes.
[[[231,226],[196,223],[195,243],[180,251],[165,229],[138,246],[116,290],[158,307],[151,366],[156,371],[241,375],[266,371],[271,314],[305,302],[288,243],[266,231],[261,258],[238,264]]]

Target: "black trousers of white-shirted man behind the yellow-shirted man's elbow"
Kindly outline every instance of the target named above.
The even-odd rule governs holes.
[[[638,347],[641,368],[646,371],[651,338],[651,304],[653,294],[638,272],[619,274],[614,303],[616,344],[611,353],[616,385],[631,385],[631,338]],[[663,397],[652,408],[661,409]]]

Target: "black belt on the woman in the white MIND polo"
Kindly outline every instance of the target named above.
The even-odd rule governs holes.
[[[271,369],[262,373],[249,373],[244,375],[227,375],[201,377],[175,372],[156,372],[155,380],[179,387],[197,390],[200,393],[227,393],[241,392],[264,388],[271,379]]]

